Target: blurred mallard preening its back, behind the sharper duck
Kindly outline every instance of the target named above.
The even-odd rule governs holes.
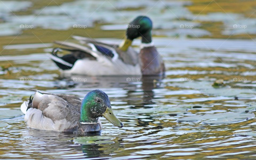
[[[153,22],[149,17],[138,16],[127,25],[120,45],[103,43],[91,38],[73,36],[81,44],[55,41],[50,58],[62,73],[93,76],[107,75],[163,75],[165,65],[152,42]],[[141,37],[140,52],[132,47],[134,39]],[[58,53],[69,54],[59,56]]]

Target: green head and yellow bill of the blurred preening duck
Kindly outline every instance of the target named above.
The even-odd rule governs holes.
[[[141,37],[142,43],[151,43],[151,30],[153,23],[149,17],[138,16],[129,23],[126,30],[126,39],[119,46],[123,51],[126,51],[131,45],[133,39]]]

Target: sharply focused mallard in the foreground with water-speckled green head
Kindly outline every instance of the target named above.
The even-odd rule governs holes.
[[[92,90],[81,100],[74,95],[53,94],[40,90],[21,105],[27,126],[58,132],[87,133],[102,130],[99,117],[122,128],[123,123],[114,115],[109,97],[102,90]]]

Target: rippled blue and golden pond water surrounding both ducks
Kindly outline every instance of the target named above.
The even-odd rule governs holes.
[[[0,2],[2,159],[255,159],[255,41],[198,38],[212,33],[197,28],[199,21],[221,21],[222,34],[228,38],[255,33],[255,19],[237,13],[192,14],[186,8],[193,5],[190,1],[154,2],[104,1],[95,14],[90,13],[102,1],[49,7],[43,2],[41,7],[30,1]],[[120,43],[127,21],[147,11],[155,24],[153,41],[165,61],[165,77],[65,77],[49,59],[52,42],[71,40],[70,35]],[[80,23],[85,19],[87,23]],[[230,27],[240,22],[248,27]],[[72,28],[77,23],[88,28]],[[19,27],[22,24],[34,28]],[[194,28],[180,28],[182,24]],[[137,51],[139,44],[133,43]],[[218,79],[224,85],[213,86]],[[80,98],[101,89],[125,126],[118,128],[100,118],[103,130],[94,134],[28,128],[20,105],[34,93],[24,88]]]

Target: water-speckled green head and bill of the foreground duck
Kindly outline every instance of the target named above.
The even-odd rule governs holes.
[[[107,94],[98,89],[90,91],[82,101],[80,123],[94,124],[102,116],[113,125],[123,127],[123,123],[115,117],[112,111]]]

